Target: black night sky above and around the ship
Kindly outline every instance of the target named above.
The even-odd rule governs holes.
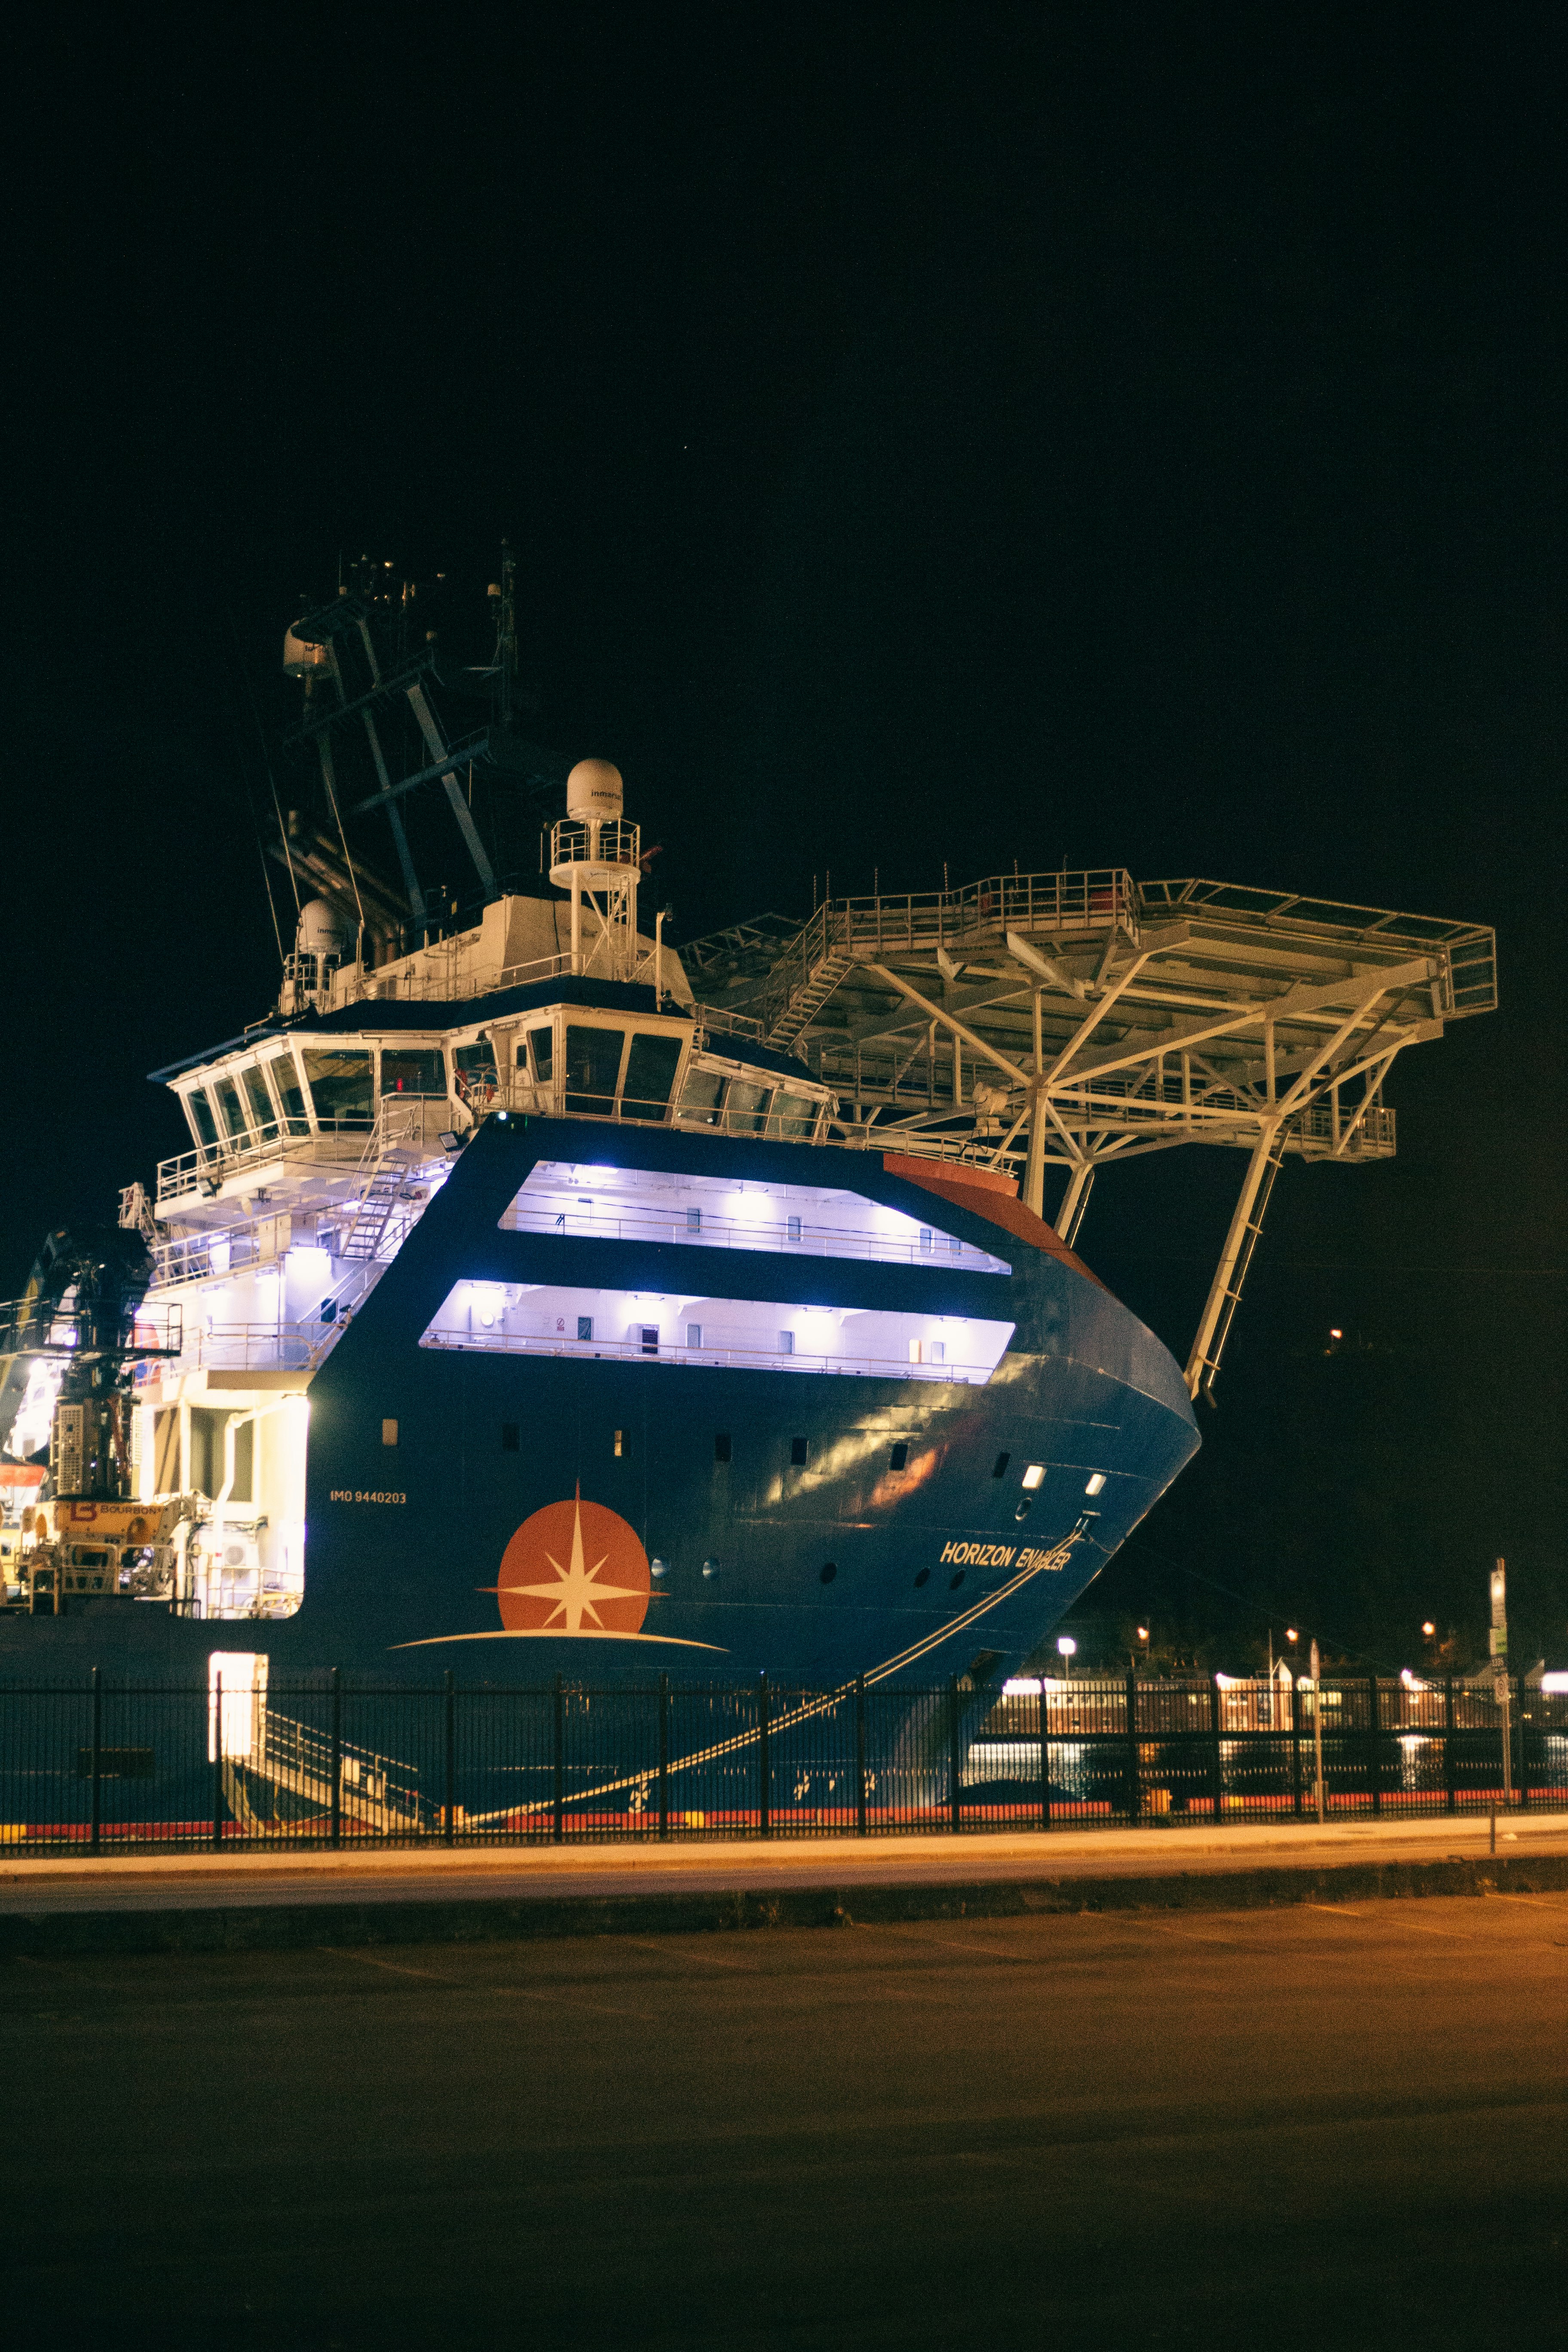
[[[212,21],[12,52],[5,1279],[270,1000],[296,595],[510,532],[538,731],[618,760],[677,936],[1013,858],[1497,924],[1399,1162],[1288,1169],[1095,1606],[1403,1663],[1507,1552],[1568,1663],[1561,12]],[[1178,1355],[1239,1174],[1091,1207]]]

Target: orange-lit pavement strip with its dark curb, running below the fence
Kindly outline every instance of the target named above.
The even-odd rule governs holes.
[[[1568,1813],[959,1837],[5,1856],[0,1955],[1253,1907],[1568,1886]]]

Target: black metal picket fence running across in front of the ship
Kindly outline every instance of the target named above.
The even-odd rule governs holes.
[[[247,1668],[249,1672],[249,1668]],[[1321,1757],[1321,1771],[1319,1771]],[[0,1689],[0,1844],[527,1844],[1568,1806],[1568,1693],[1143,1677]]]

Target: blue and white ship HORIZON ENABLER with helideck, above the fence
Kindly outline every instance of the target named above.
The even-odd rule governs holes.
[[[275,1004],[5,1310],[0,1677],[990,1705],[1194,1456],[1284,1157],[1392,1157],[1490,929],[1095,868],[677,946],[618,769],[520,731],[510,555],[461,677],[388,579],[284,633]],[[1079,1244],[1199,1145],[1182,1359]]]

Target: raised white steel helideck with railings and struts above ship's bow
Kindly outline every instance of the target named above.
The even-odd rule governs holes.
[[[1394,1058],[1497,985],[1483,924],[1100,868],[839,898],[698,995],[802,1054],[846,1141],[1013,1169],[1041,1216],[1065,1169],[1067,1242],[1107,1162],[1244,1150],[1187,1362],[1211,1395],[1281,1157],[1392,1157]]]

